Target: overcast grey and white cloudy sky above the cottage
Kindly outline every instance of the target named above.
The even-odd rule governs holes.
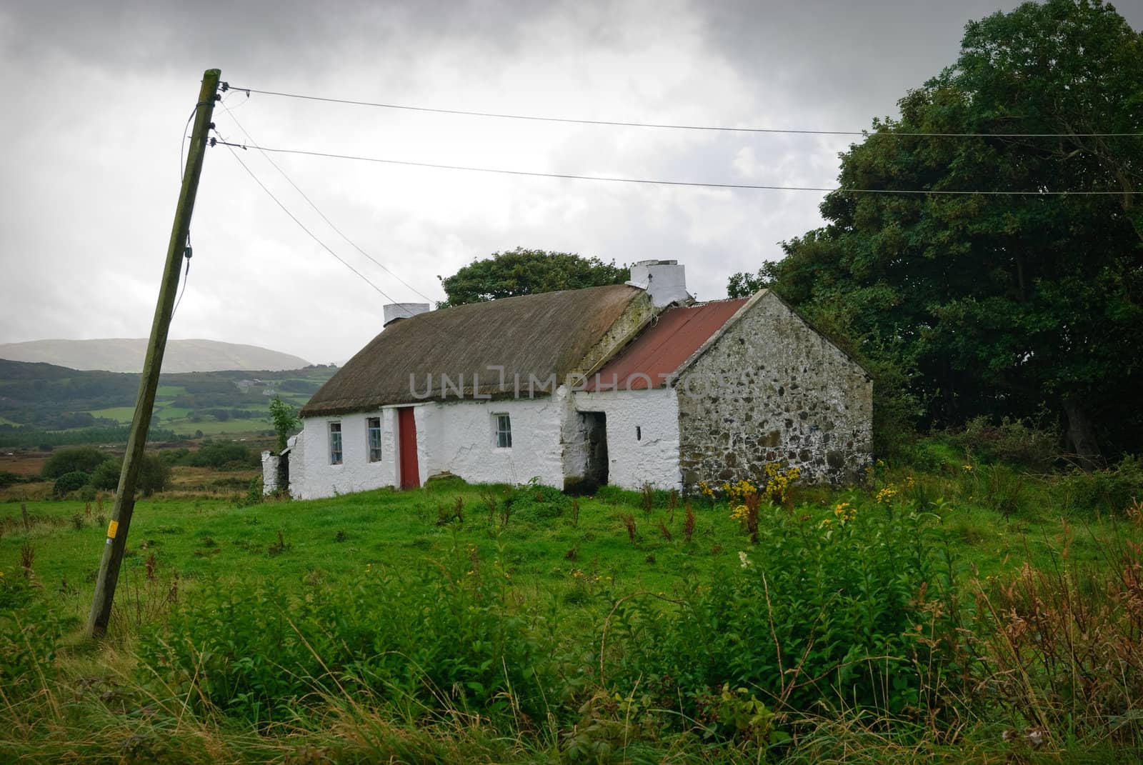
[[[206,69],[239,88],[435,109],[860,130],[1007,0],[0,0],[0,342],[144,337]],[[1143,29],[1143,0],[1116,3]],[[847,138],[514,121],[230,91],[241,143],[415,162],[831,186]],[[686,265],[700,300],[821,225],[822,194],[604,183],[208,150],[171,337],[344,361],[382,305],[517,246]],[[395,274],[395,276],[394,276]],[[403,280],[409,286],[402,284]]]

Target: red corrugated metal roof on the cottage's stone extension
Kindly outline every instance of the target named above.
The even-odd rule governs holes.
[[[591,376],[585,390],[663,388],[664,377],[682,366],[748,300],[716,301],[663,311],[655,326],[647,327]]]

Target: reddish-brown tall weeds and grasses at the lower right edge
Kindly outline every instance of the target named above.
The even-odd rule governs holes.
[[[1120,537],[1106,564],[1025,564],[982,585],[981,687],[1057,741],[1098,733],[1143,743],[1143,548]]]

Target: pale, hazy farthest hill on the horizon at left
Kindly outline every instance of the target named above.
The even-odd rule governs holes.
[[[0,359],[38,361],[70,369],[142,372],[147,341],[113,340],[33,340],[26,343],[0,343]],[[305,359],[257,345],[238,345],[216,340],[169,340],[162,357],[165,373],[221,372],[224,369],[301,369]]]

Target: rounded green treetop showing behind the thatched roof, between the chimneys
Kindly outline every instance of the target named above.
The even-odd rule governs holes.
[[[441,278],[448,300],[439,306],[616,285],[630,278],[630,270],[615,265],[614,261],[604,263],[598,257],[517,247],[512,252],[493,253],[490,257],[473,261],[453,276]]]

